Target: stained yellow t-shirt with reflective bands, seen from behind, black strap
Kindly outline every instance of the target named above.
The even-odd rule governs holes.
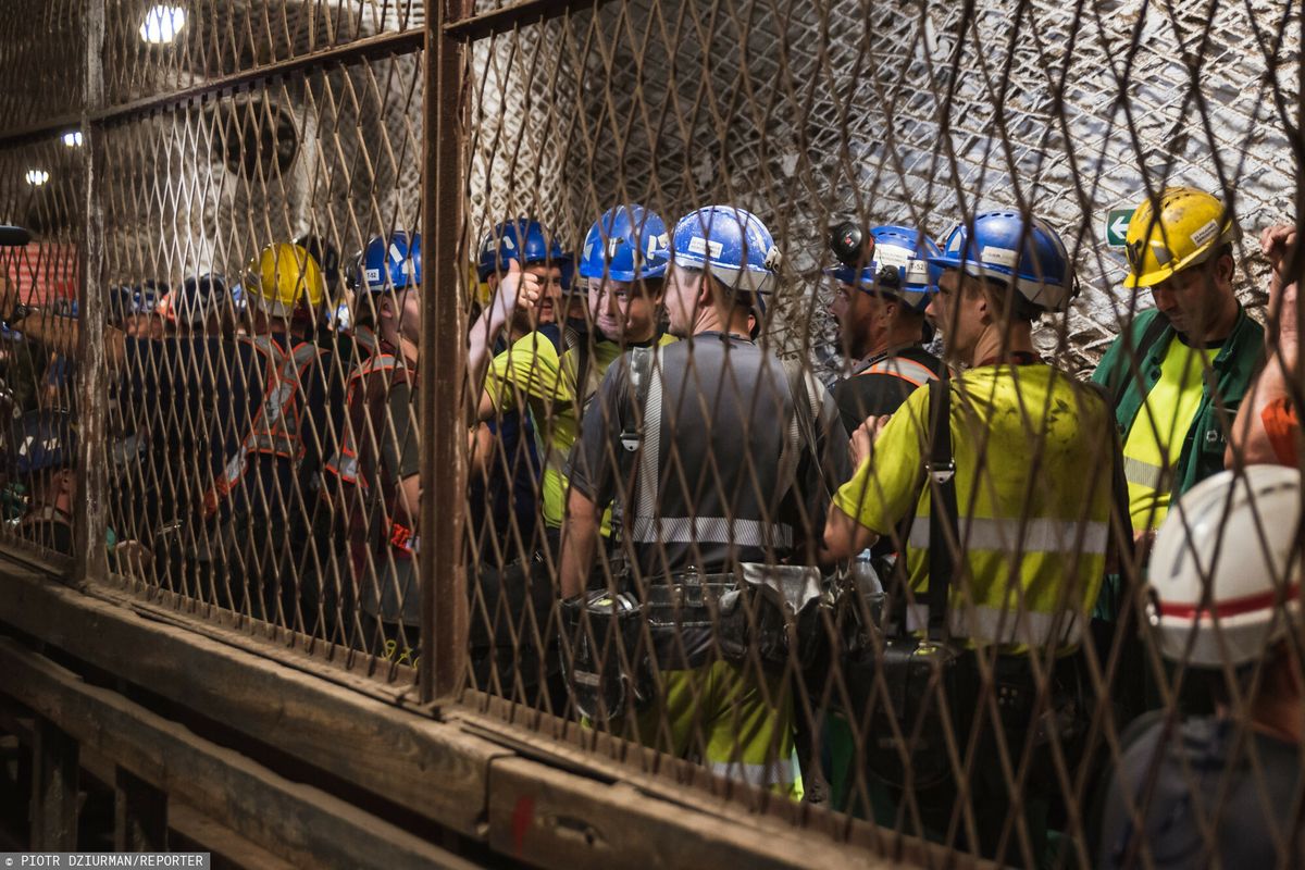
[[[889,536],[914,517],[906,566],[928,623],[929,391],[893,415],[874,454],[834,505]],[[960,554],[949,605],[951,633],[1007,653],[1074,648],[1105,573],[1117,445],[1104,399],[1048,365],[988,365],[951,385]]]

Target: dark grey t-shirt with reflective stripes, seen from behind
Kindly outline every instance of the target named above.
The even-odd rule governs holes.
[[[788,372],[753,342],[702,333],[652,352],[649,424],[638,425],[626,353],[585,415],[572,487],[600,507],[621,502],[621,533],[645,575],[812,561],[830,503],[821,470],[829,488],[850,476],[847,432],[825,389],[806,378],[821,406],[812,445],[793,424]],[[639,433],[638,450],[622,432]]]

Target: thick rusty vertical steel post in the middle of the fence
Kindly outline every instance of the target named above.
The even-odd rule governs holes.
[[[466,304],[462,237],[462,44],[446,21],[468,0],[425,0],[423,56],[422,231],[422,665],[420,695],[446,698],[462,685],[467,659],[463,503],[467,483]]]

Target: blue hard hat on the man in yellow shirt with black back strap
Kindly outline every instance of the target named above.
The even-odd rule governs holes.
[[[1014,284],[1043,310],[1067,310],[1078,295],[1065,243],[1045,222],[1018,211],[981,211],[971,223],[958,223],[942,254],[929,262]]]

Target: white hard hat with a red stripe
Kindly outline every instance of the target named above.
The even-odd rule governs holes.
[[[1300,595],[1300,471],[1223,471],[1182,496],[1156,536],[1150,622],[1160,652],[1198,668],[1261,659]]]

